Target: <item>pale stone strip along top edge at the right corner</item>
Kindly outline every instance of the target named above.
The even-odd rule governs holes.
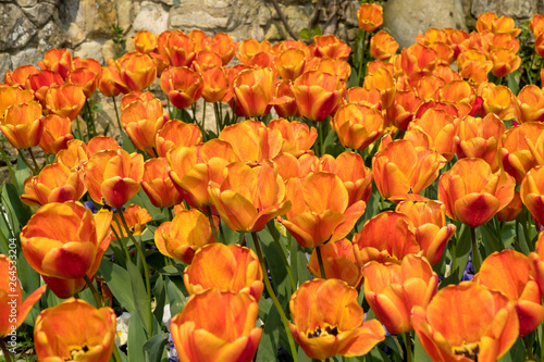
[[[537,12],[537,0],[472,0],[471,13],[478,17],[480,14],[492,11],[498,16],[527,20]]]

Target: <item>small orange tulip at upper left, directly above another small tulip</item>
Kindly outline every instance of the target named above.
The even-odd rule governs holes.
[[[83,88],[73,84],[53,85],[46,93],[46,107],[49,113],[75,120],[85,104]]]

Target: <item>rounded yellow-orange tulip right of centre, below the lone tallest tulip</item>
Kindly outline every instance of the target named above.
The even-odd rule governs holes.
[[[342,146],[363,150],[382,135],[384,120],[376,109],[347,103],[338,108],[332,126]]]

